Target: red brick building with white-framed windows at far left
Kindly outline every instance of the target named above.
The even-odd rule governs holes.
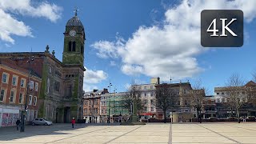
[[[30,82],[27,93],[28,82]],[[0,126],[14,126],[25,109],[27,94],[26,121],[38,116],[38,97],[41,78],[30,74],[11,59],[0,61]]]

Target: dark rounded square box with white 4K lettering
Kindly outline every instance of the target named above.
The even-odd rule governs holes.
[[[212,32],[206,30],[216,18],[216,29],[218,30],[218,37],[211,37]],[[227,18],[225,26],[232,20],[228,28],[237,34],[234,37],[228,30],[225,30],[226,37],[221,37],[222,34],[222,21],[220,18]],[[210,26],[213,30],[213,25]],[[243,12],[242,10],[202,10],[201,12],[201,45],[204,47],[241,47],[243,45]]]

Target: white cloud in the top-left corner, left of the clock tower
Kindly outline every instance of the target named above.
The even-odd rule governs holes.
[[[32,5],[34,4],[34,5]],[[36,6],[35,6],[36,5]],[[31,17],[46,18],[56,22],[61,15],[62,8],[49,2],[30,2],[30,0],[1,0],[0,1],[0,39],[14,44],[11,35],[30,36],[30,26],[19,21],[15,15],[22,14]]]

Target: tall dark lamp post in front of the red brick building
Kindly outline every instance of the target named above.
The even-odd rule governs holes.
[[[21,126],[21,132],[24,132],[25,130],[25,122],[26,122],[26,111],[27,111],[27,98],[29,95],[29,90],[30,90],[30,74],[31,74],[31,62],[34,61],[34,56],[30,55],[29,60],[27,61],[29,63],[29,75],[27,78],[27,85],[26,85],[26,100],[25,100],[25,106],[24,106],[24,111],[22,112],[22,126]]]

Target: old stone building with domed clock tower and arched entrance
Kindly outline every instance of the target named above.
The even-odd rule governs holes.
[[[62,62],[44,52],[2,53],[0,59],[15,59],[18,66],[31,69],[42,79],[38,98],[38,117],[53,122],[70,122],[82,119],[82,85],[84,68],[85,30],[77,14],[66,23]],[[30,66],[26,59],[33,56]]]

